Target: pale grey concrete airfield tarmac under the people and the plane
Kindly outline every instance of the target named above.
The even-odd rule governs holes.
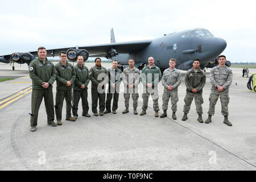
[[[94,63],[85,65],[90,68]],[[110,68],[112,64],[102,65]],[[133,114],[131,99],[130,113],[122,114],[125,106],[120,94],[117,114],[108,113],[103,117],[82,117],[80,101],[76,122],[64,120],[64,102],[63,125],[57,127],[47,126],[42,101],[38,130],[31,133],[28,115],[31,112],[31,79],[27,65],[16,64],[12,71],[9,64],[0,64],[0,77],[19,77],[0,82],[0,103],[13,96],[6,101],[10,104],[0,109],[0,170],[255,170],[256,93],[248,92],[248,78],[242,77],[242,68],[232,68],[232,71],[233,83],[229,91],[232,127],[223,123],[220,100],[212,123],[197,122],[194,101],[188,120],[181,121],[185,97],[185,71],[181,71],[176,121],[171,118],[170,102],[168,117],[155,118],[151,98],[146,115]],[[203,92],[204,121],[209,108],[209,72],[210,69]],[[256,73],[256,69],[250,72]],[[56,82],[54,98],[55,93]],[[89,114],[92,114],[90,86],[88,93]],[[16,94],[24,96],[11,102]],[[162,95],[160,83],[161,114]],[[138,112],[141,112],[142,97],[139,96]]]

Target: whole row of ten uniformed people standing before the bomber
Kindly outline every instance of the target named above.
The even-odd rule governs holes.
[[[78,114],[78,105],[81,98],[82,101],[82,116],[90,117],[88,114],[88,84],[91,81],[91,95],[92,95],[92,112],[94,116],[104,115],[107,113],[117,113],[118,98],[120,84],[123,82],[125,98],[125,110],[123,114],[129,113],[129,100],[133,99],[133,113],[138,114],[138,98],[139,98],[139,84],[143,85],[143,105],[140,115],[146,114],[148,107],[148,98],[152,97],[155,117],[159,117],[158,104],[158,84],[162,80],[164,86],[163,93],[163,114],[160,118],[167,117],[168,101],[171,100],[172,119],[177,119],[177,101],[178,87],[181,83],[181,73],[175,68],[176,60],[170,59],[169,68],[162,73],[160,68],[154,64],[154,57],[148,57],[148,65],[139,71],[134,67],[134,60],[128,61],[129,67],[125,68],[123,72],[118,68],[118,61],[114,60],[112,68],[106,69],[101,65],[101,59],[95,59],[94,67],[88,69],[84,65],[84,57],[77,56],[77,64],[73,67],[67,61],[67,53],[60,52],[60,62],[53,65],[47,57],[47,51],[44,47],[38,48],[38,58],[31,61],[29,65],[30,78],[32,80],[32,98],[31,98],[31,131],[36,131],[38,123],[38,111],[40,104],[44,98],[47,113],[47,123],[49,126],[56,127],[63,125],[62,109],[64,99],[66,101],[66,117],[67,121],[76,121]],[[212,115],[218,97],[221,101],[221,113],[224,115],[224,123],[232,126],[228,120],[228,104],[229,104],[229,86],[232,84],[232,70],[226,67],[226,57],[224,55],[218,58],[219,65],[212,68],[210,71],[210,83],[212,84],[211,93],[209,96],[209,111],[208,118],[205,123],[212,122]],[[200,69],[200,60],[193,60],[193,67],[189,69],[185,75],[185,86],[187,92],[184,98],[184,115],[182,121],[188,119],[188,113],[193,99],[195,99],[196,111],[199,115],[197,121],[203,123],[203,88],[205,85],[205,72]],[[56,80],[56,101],[53,104],[52,85]],[[105,93],[105,86],[108,84],[108,91]],[[111,110],[111,102],[113,105]],[[97,105],[99,102],[99,113]],[[55,112],[54,112],[55,109]],[[104,111],[105,110],[105,111]],[[71,116],[71,111],[73,117]],[[57,123],[54,122],[56,114]]]

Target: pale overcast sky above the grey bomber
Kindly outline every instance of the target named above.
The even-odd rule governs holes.
[[[228,43],[227,59],[256,62],[254,1],[1,1],[0,55],[154,39],[207,28]]]

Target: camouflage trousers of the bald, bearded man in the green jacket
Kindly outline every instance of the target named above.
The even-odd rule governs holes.
[[[143,98],[143,105],[142,105],[142,109],[143,110],[147,110],[148,107],[148,98],[152,97],[153,100],[153,109],[155,111],[159,111],[159,105],[158,105],[158,89],[147,89],[146,93],[142,94],[142,98]]]

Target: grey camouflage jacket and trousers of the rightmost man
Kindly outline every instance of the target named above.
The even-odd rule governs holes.
[[[209,111],[208,114],[213,115],[215,110],[216,102],[218,101],[218,97],[220,97],[221,101],[221,113],[222,115],[229,115],[228,112],[228,104],[229,104],[229,86],[232,84],[233,73],[232,69],[227,67],[220,67],[217,65],[213,67],[210,71],[210,83],[212,84],[211,93],[209,97]],[[218,92],[217,86],[223,86],[224,90]]]

